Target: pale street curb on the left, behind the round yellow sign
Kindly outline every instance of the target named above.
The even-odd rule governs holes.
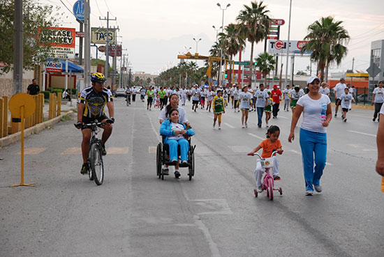
[[[34,127],[29,127],[26,130],[24,130],[24,138],[28,137],[31,134],[36,134],[37,132],[40,132],[41,130],[45,130],[45,127],[51,126],[53,124],[59,123],[60,118],[63,116],[66,116],[68,114],[73,114],[73,111],[67,111],[64,114],[61,114],[60,116],[57,116],[55,118],[52,118],[51,120],[47,120],[43,123],[39,123],[37,125],[34,125]],[[21,140],[21,132],[17,132],[15,134],[10,134],[8,137],[3,137],[0,139],[0,149],[9,146],[12,143],[16,143],[17,141]]]

